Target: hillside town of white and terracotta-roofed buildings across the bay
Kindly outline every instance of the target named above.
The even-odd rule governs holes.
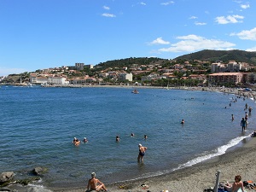
[[[2,84],[53,86],[136,84],[232,87],[247,86],[255,81],[255,67],[247,62],[176,61],[147,57],[108,61],[96,66],[75,63],[74,66],[38,69],[36,72],[0,77]]]

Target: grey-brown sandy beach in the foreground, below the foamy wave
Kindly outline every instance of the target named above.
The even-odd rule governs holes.
[[[216,173],[220,172],[220,183],[229,181],[232,183],[236,175],[241,175],[242,181],[252,180],[256,182],[255,168],[256,163],[256,137],[244,141],[241,147],[228,151],[226,154],[177,170],[170,174],[148,177],[135,181],[120,183],[105,183],[109,191],[116,192],[160,192],[168,190],[169,192],[201,192],[204,189],[213,188],[216,182]],[[145,164],[147,156],[145,156]],[[88,176],[90,178],[90,176]],[[99,178],[104,183],[104,178]],[[147,187],[143,188],[142,184]],[[86,190],[87,183],[84,182],[84,188],[78,189],[51,189],[53,191],[81,192]],[[120,188],[120,186],[122,186]],[[247,189],[248,191],[248,189]],[[253,191],[252,189],[250,191]]]

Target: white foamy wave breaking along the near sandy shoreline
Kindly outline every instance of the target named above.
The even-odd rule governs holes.
[[[189,160],[187,163],[184,163],[183,165],[178,166],[177,168],[173,169],[172,171],[176,171],[176,170],[182,169],[184,167],[188,167],[188,166],[194,166],[195,164],[198,164],[204,160],[210,160],[213,157],[224,154],[227,151],[227,149],[236,146],[238,143],[240,143],[243,139],[245,139],[247,137],[250,137],[250,135],[243,136],[243,137],[236,137],[236,138],[230,140],[230,142],[227,143],[226,145],[218,147],[216,150],[214,150],[214,152],[212,154],[205,154],[205,155],[196,157],[195,159]]]

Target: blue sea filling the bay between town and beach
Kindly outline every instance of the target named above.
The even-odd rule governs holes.
[[[255,129],[254,111],[247,131],[240,125],[245,105],[255,108],[252,98],[150,88],[132,94],[133,89],[2,85],[0,172],[26,178],[44,167],[47,172],[34,184],[45,189],[84,187],[91,172],[103,183],[118,183],[212,159],[247,143]],[[74,146],[73,137],[89,142]],[[137,163],[139,143],[148,148],[143,163]]]

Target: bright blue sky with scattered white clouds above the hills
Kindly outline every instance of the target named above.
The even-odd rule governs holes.
[[[0,76],[202,49],[256,51],[256,0],[0,0]]]

